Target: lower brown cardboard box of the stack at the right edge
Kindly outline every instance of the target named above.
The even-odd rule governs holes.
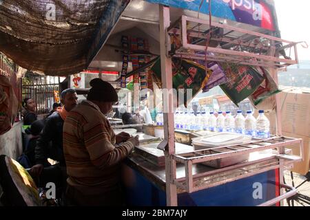
[[[291,171],[294,173],[300,173],[301,175],[305,175],[310,170],[310,137],[302,136],[302,135],[296,135],[294,133],[282,133],[285,137],[296,137],[296,138],[302,138],[303,140],[303,161],[293,164],[293,168]],[[293,155],[300,155],[299,147],[289,147],[292,149]]]

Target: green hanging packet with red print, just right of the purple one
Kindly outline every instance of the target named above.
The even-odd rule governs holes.
[[[265,79],[256,69],[235,63],[221,63],[228,83],[220,85],[225,94],[238,106],[258,89]]]

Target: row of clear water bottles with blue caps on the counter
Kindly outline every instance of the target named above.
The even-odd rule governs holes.
[[[163,113],[156,116],[157,125],[163,125]],[[185,129],[189,131],[218,131],[235,132],[252,137],[268,138],[270,137],[270,123],[264,115],[264,111],[259,111],[258,118],[254,118],[252,111],[247,111],[247,117],[242,115],[242,111],[237,111],[236,117],[231,115],[230,111],[218,112],[218,117],[214,112],[209,114],[202,112],[194,115],[194,112],[176,112],[174,114],[174,126],[176,129]]]

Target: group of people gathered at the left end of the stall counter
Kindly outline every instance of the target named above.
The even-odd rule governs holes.
[[[119,206],[121,162],[139,144],[138,136],[115,135],[105,116],[118,102],[114,87],[100,78],[90,85],[87,99],[79,103],[74,89],[62,91],[61,104],[54,103],[43,120],[38,120],[34,100],[23,100],[23,123],[30,126],[26,168],[39,187],[50,181],[59,186],[56,193],[63,205]],[[124,124],[145,122],[138,109],[122,118]]]

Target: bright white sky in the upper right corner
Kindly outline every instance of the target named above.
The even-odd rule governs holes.
[[[281,38],[287,41],[306,41],[308,49],[298,46],[299,60],[310,61],[310,1],[274,0]]]

